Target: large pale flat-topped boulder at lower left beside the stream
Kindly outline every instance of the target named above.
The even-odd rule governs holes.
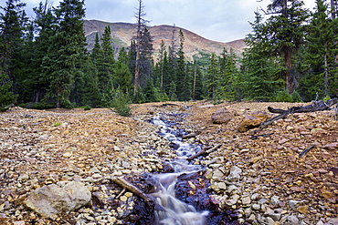
[[[90,201],[91,193],[82,183],[72,181],[64,187],[50,184],[33,190],[24,201],[26,207],[45,218],[56,220],[58,213],[77,210]]]

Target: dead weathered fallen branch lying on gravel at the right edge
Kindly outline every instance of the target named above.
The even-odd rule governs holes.
[[[280,108],[273,108],[268,107],[269,112],[271,113],[279,113],[280,115],[274,118],[270,118],[267,121],[260,124],[259,128],[267,128],[271,125],[274,121],[279,120],[280,118],[287,118],[289,114],[292,113],[308,113],[308,112],[316,112],[316,111],[323,111],[323,110],[331,110],[334,104],[338,102],[338,98],[334,97],[333,99],[327,100],[324,102],[323,100],[315,101],[311,105],[305,107],[290,107],[287,110],[280,109]]]

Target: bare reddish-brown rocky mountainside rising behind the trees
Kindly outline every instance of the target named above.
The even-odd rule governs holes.
[[[108,23],[98,20],[86,20],[84,23],[84,29],[89,49],[94,46],[95,35],[99,33],[101,36],[106,26],[111,26],[111,38],[114,49],[118,50],[121,47],[128,47],[131,45],[132,36],[135,35],[135,25],[128,23]],[[179,46],[179,29],[181,28],[176,26],[150,26],[149,31],[151,36],[153,36],[154,53],[158,53],[162,40],[164,40],[165,46],[171,46],[173,33],[175,44],[176,46]],[[243,39],[228,43],[221,43],[198,36],[184,28],[182,28],[182,30],[185,35],[185,56],[189,59],[192,59],[193,56],[202,57],[212,52],[220,54],[223,51],[223,48],[226,48],[227,50],[233,48],[235,53],[240,55],[245,47]]]

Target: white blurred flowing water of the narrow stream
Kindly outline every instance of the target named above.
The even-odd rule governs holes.
[[[184,173],[193,173],[201,170],[201,166],[189,165],[187,157],[195,155],[201,149],[199,145],[186,144],[182,135],[186,133],[182,129],[174,128],[174,124],[163,118],[154,117],[152,123],[162,128],[158,134],[171,141],[177,157],[170,162],[174,168],[173,173],[155,175],[157,189],[152,195],[156,199],[155,224],[158,225],[205,225],[207,211],[196,211],[191,205],[176,199],[174,188],[178,176]]]

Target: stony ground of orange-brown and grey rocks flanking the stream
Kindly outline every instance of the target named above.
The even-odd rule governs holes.
[[[300,105],[308,104],[147,103],[133,105],[129,118],[107,108],[14,107],[0,113],[0,224],[123,224],[121,209],[102,216],[85,206],[48,220],[27,210],[23,201],[33,189],[59,181],[79,180],[94,194],[97,180],[161,171],[159,162],[174,158],[174,153],[168,141],[156,135],[158,127],[148,121],[172,112],[186,114],[180,126],[198,133],[187,142],[220,145],[195,159],[211,174],[206,178],[219,207],[238,209],[239,219],[252,224],[338,224],[338,121],[333,111],[291,114],[257,133],[238,132],[245,115],[264,111],[272,118],[275,115],[267,107]],[[213,124],[211,116],[224,107],[232,119]],[[226,182],[234,166],[241,169],[235,184]],[[217,179],[217,169],[223,169],[225,179]]]

